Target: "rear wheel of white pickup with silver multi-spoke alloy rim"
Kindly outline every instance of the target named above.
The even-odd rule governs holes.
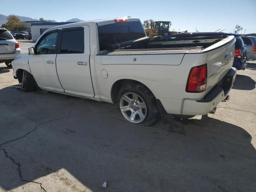
[[[127,121],[151,126],[158,120],[156,98],[143,84],[125,84],[118,92],[117,98],[120,112]]]

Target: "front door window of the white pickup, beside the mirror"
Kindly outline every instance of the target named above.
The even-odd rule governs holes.
[[[58,32],[49,33],[36,46],[36,54],[56,54],[56,38]]]

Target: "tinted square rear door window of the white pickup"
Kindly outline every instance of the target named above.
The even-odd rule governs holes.
[[[84,29],[68,30],[68,28],[66,28],[63,30],[61,35],[60,53],[84,53]]]

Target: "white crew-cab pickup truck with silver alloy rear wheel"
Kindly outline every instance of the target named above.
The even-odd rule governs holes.
[[[234,36],[150,40],[139,19],[77,22],[48,29],[12,62],[24,92],[42,89],[117,104],[126,120],[204,115],[228,100]]]

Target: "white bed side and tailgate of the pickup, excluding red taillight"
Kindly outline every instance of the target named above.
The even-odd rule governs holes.
[[[194,42],[195,46],[186,46],[183,41],[167,41],[171,44],[176,42],[183,47],[104,51],[96,56],[96,60],[101,63],[96,66],[96,71],[100,72],[99,87],[105,87],[107,83],[111,86],[116,77],[135,80],[146,85],[168,113],[182,114],[185,99],[203,100],[232,67],[235,37],[228,36],[218,42],[215,40],[211,41],[210,46],[209,43],[206,46],[196,46],[200,42]],[[165,44],[167,42],[160,41]],[[191,69],[204,64],[207,65],[206,90],[199,93],[186,92]],[[102,78],[102,71],[107,72],[107,81]],[[214,108],[213,103],[211,106]]]

